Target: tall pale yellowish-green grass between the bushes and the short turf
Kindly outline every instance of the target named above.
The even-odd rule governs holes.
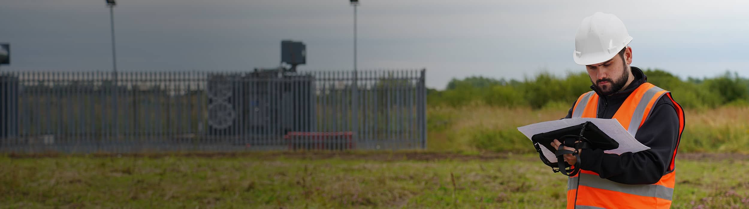
[[[476,105],[430,107],[428,149],[449,152],[536,152],[518,127],[561,119],[569,104],[541,110]],[[749,106],[685,110],[679,152],[749,154]]]

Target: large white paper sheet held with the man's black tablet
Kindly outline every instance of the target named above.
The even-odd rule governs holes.
[[[650,149],[648,146],[643,145],[636,139],[634,139],[634,136],[632,134],[629,134],[624,127],[622,127],[621,124],[619,124],[619,121],[616,119],[600,119],[600,118],[573,118],[573,119],[557,119],[547,122],[539,122],[534,123],[531,125],[525,125],[523,127],[518,127],[518,131],[521,131],[523,134],[525,134],[526,137],[528,137],[528,140],[530,140],[530,137],[533,137],[533,135],[541,134],[548,131],[554,131],[560,128],[566,128],[573,125],[580,125],[583,122],[592,122],[595,124],[595,126],[598,126],[598,128],[601,129],[601,131],[604,131],[605,134],[607,134],[609,137],[611,137],[613,140],[616,140],[617,143],[619,143],[619,148],[612,149],[612,150],[606,150],[604,153],[611,153],[616,155],[622,155],[622,153],[625,152],[640,152],[646,149]],[[542,149],[542,152],[544,153],[544,156],[546,159],[548,159],[552,163],[557,162],[557,157],[554,156],[554,153],[548,151],[547,149]]]

